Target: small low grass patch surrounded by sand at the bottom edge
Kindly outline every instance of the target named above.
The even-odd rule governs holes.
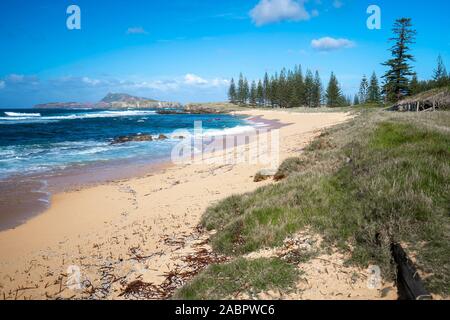
[[[216,300],[239,293],[257,294],[293,286],[298,277],[295,266],[280,259],[236,259],[209,266],[206,271],[175,293],[174,299]]]

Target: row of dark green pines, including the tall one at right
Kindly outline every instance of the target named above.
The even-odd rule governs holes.
[[[392,29],[394,45],[390,49],[391,58],[383,63],[387,67],[380,85],[375,72],[370,79],[363,76],[358,94],[353,100],[342,94],[339,82],[331,73],[326,88],[323,87],[319,72],[307,70],[302,72],[301,66],[293,70],[283,69],[279,73],[249,83],[242,74],[236,83],[231,79],[228,98],[231,103],[263,106],[294,108],[304,106],[330,108],[360,104],[380,104],[382,102],[396,102],[405,96],[414,95],[436,87],[450,86],[450,74],[447,73],[442,57],[438,57],[438,64],[432,80],[419,81],[411,62],[415,61],[411,54],[411,44],[415,41],[416,31],[412,28],[411,19],[398,19]]]

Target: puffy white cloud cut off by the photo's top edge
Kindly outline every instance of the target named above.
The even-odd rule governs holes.
[[[305,0],[261,0],[250,11],[257,26],[282,20],[309,20],[311,14],[305,9]]]

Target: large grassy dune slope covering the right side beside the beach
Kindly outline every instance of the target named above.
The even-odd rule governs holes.
[[[279,184],[209,208],[215,250],[239,256],[309,226],[393,276],[390,243],[407,244],[428,288],[450,295],[450,114],[364,111],[289,159]]]

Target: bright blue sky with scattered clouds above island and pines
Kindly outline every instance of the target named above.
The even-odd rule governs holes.
[[[81,30],[66,27],[72,4]],[[371,4],[381,30],[366,27]],[[426,79],[438,54],[450,68],[448,12],[443,0],[2,0],[0,107],[96,102],[108,92],[222,101],[240,72],[257,79],[295,64],[324,83],[334,71],[353,94],[364,73],[383,73],[402,16],[418,30],[415,66]]]

